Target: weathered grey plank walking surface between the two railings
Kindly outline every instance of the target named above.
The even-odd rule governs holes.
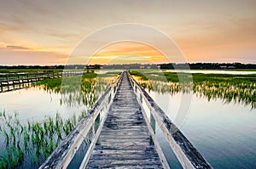
[[[162,168],[125,72],[86,168]]]

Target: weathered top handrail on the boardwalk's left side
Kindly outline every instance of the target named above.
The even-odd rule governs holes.
[[[108,87],[108,90],[102,95],[102,97],[96,101],[96,104],[94,104],[90,112],[85,115],[77,127],[73,129],[73,132],[69,133],[67,138],[65,138],[54,150],[54,152],[49,155],[48,159],[39,167],[40,169],[67,168],[76,151],[79,149],[79,146],[82,144],[84,138],[89,133],[90,128],[96,121],[97,116],[104,108],[104,103],[109,104],[109,98],[113,100],[114,94],[116,93],[116,89],[119,86],[119,82],[122,77],[123,73],[111,87]]]

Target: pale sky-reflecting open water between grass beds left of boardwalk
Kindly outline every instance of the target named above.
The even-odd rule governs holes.
[[[77,116],[86,110],[84,104],[69,107],[61,104],[61,93],[49,93],[38,87],[20,89],[8,93],[0,93],[0,110],[7,113],[19,112],[20,121],[41,120],[44,116],[55,116],[60,113],[62,117]]]

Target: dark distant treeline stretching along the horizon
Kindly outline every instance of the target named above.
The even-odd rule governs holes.
[[[160,65],[0,65],[0,69],[256,69],[256,64],[241,63],[194,63],[194,64],[160,64]]]

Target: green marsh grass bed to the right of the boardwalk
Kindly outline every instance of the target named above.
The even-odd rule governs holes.
[[[154,74],[158,76],[154,76]],[[134,73],[139,76],[139,74]],[[178,82],[177,74],[173,72],[143,72],[150,81],[145,81],[144,77],[137,79],[138,82],[148,90],[160,93],[187,93],[193,91],[198,96],[211,99],[223,99],[225,102],[251,105],[256,108],[256,75],[220,75],[220,74],[193,74],[193,84],[191,82]],[[189,74],[182,73],[186,77]],[[165,82],[167,81],[167,82]]]

